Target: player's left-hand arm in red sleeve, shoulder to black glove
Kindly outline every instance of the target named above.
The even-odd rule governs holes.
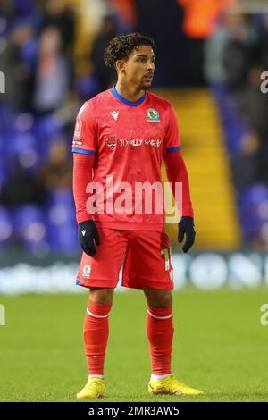
[[[73,152],[73,197],[76,220],[79,225],[80,245],[86,254],[94,256],[100,239],[96,224],[87,210],[88,183],[92,182],[92,170],[96,155],[96,122],[88,103],[82,106],[77,116]]]

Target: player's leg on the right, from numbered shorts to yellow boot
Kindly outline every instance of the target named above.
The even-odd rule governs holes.
[[[202,393],[177,381],[172,375],[174,285],[170,239],[165,231],[133,232],[122,284],[143,289],[147,298],[146,329],[152,364],[148,391],[154,394]]]

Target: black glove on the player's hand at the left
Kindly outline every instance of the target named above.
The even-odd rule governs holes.
[[[80,246],[85,251],[88,256],[95,256],[96,254],[96,245],[100,245],[99,234],[96,229],[96,224],[93,220],[87,220],[79,224],[79,239]]]

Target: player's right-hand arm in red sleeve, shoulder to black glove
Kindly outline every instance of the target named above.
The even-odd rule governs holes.
[[[180,212],[178,241],[186,241],[182,247],[183,252],[188,252],[195,242],[196,231],[194,224],[194,211],[190,199],[188,172],[181,155],[180,137],[177,115],[171,105],[170,121],[163,145],[163,162],[168,181],[171,183],[172,194],[177,200]],[[176,197],[176,183],[180,182],[182,193]]]

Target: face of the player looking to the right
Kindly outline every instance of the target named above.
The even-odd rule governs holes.
[[[155,54],[151,46],[137,46],[125,60],[117,63],[127,84],[149,89],[155,72]]]

